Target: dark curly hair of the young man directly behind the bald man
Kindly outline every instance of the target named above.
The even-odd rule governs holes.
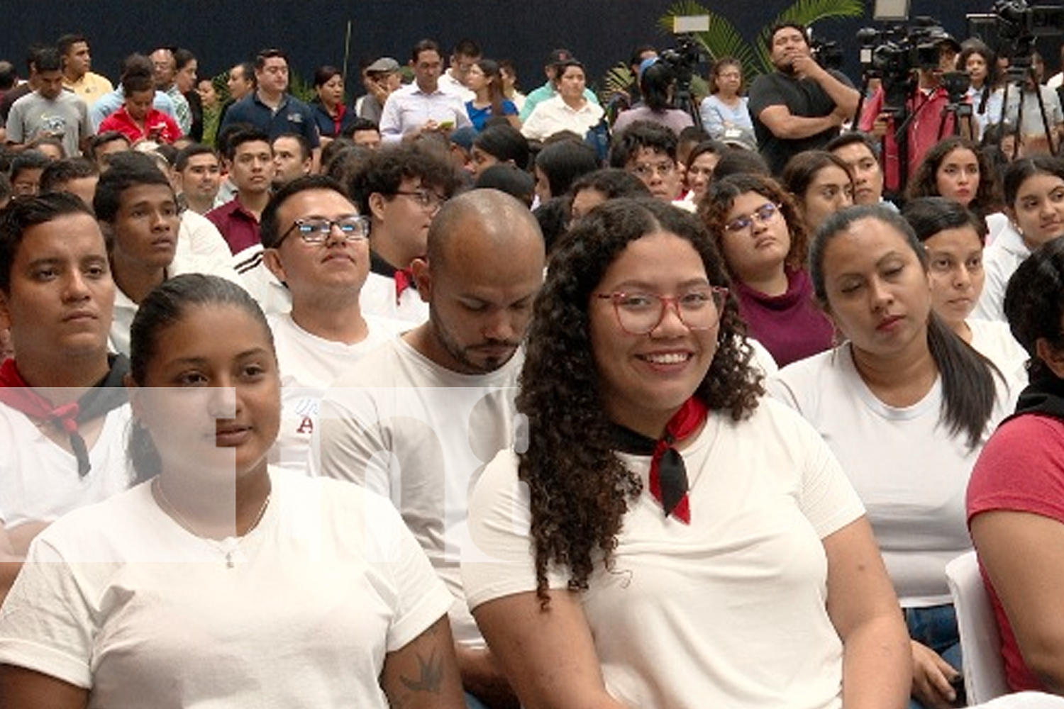
[[[414,144],[384,146],[375,151],[351,178],[348,192],[359,212],[369,215],[370,195],[376,192],[392,198],[402,181],[409,178],[419,178],[427,187],[440,189],[448,197],[454,191],[454,170],[451,166],[435,153]]]

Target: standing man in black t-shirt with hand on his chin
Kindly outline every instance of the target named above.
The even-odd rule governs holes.
[[[776,71],[754,80],[749,108],[761,154],[778,174],[793,155],[838,135],[860,94],[845,74],[816,63],[801,24],[779,24],[770,36]]]

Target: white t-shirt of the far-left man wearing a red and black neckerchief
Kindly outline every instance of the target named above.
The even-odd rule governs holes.
[[[121,492],[133,482],[127,465],[129,404],[109,411],[88,451],[90,469],[78,475],[78,460],[48,438],[24,413],[0,404],[0,522],[54,522],[72,509]]]

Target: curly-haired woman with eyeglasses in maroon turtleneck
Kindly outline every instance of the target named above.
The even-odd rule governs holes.
[[[750,335],[783,367],[831,348],[834,332],[813,301],[807,232],[795,202],[768,176],[714,180],[699,214],[716,238]]]

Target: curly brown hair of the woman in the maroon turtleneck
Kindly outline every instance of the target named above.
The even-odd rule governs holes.
[[[710,183],[710,188],[698,204],[698,216],[709,227],[717,249],[724,253],[720,241],[725,236],[728,213],[731,212],[735,200],[747,192],[758,192],[780,205],[780,212],[783,213],[787,231],[791,233],[791,250],[787,251],[785,264],[792,270],[805,268],[805,258],[809,254],[809,233],[805,231],[805,222],[791,193],[768,175],[736,173],[721,180],[714,179]],[[734,273],[731,275],[735,277]]]

